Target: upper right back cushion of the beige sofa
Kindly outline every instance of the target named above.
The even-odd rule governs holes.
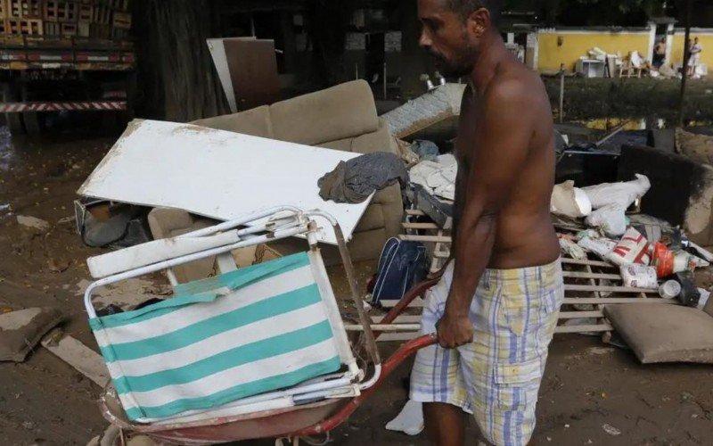
[[[378,128],[369,84],[355,80],[270,106],[273,137],[318,145],[371,133]]]

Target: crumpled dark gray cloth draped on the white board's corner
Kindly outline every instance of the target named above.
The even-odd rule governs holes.
[[[399,181],[408,184],[404,162],[394,153],[375,152],[340,161],[335,169],[319,178],[319,196],[324,201],[364,202],[375,190]]]

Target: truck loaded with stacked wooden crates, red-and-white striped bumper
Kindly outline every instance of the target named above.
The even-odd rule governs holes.
[[[0,113],[13,135],[38,135],[58,115],[130,119],[135,48],[128,0],[0,0]]]

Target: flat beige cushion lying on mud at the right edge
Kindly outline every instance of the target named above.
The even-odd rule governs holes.
[[[643,364],[713,364],[713,317],[677,305],[607,305],[604,315]]]

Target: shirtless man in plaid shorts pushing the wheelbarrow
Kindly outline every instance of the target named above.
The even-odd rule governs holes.
[[[465,412],[485,440],[525,445],[563,299],[550,218],[553,120],[537,74],[496,28],[496,0],[419,0],[420,44],[447,77],[467,77],[455,145],[454,259],[429,294],[411,399],[431,442],[465,442]]]

